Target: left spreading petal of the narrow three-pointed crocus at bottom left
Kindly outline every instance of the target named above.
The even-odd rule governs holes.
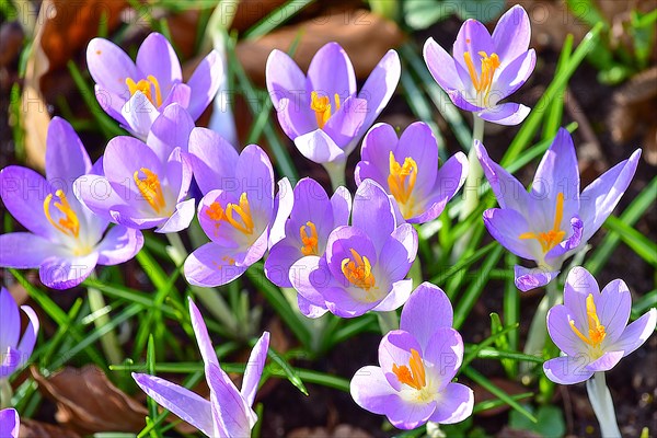
[[[210,402],[186,388],[159,377],[132,372],[132,379],[160,406],[211,437],[214,420]]]

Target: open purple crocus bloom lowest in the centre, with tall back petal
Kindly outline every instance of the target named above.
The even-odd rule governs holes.
[[[400,429],[468,418],[474,394],[452,383],[463,361],[463,341],[452,320],[445,292],[429,283],[419,285],[402,310],[400,330],[379,344],[380,367],[360,368],[351,379],[354,401]]]

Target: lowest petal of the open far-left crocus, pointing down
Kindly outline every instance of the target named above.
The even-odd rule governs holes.
[[[96,252],[79,257],[50,257],[41,265],[38,276],[51,289],[70,289],[89,277],[97,260]]]

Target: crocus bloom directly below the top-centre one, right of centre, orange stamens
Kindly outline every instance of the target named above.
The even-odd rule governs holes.
[[[425,123],[410,125],[397,139],[388,124],[374,125],[362,140],[356,184],[374,180],[396,200],[410,223],[436,219],[468,175],[468,159],[457,152],[438,169],[438,143]]]

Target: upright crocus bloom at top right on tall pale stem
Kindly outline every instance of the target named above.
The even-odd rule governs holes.
[[[493,36],[476,20],[461,26],[450,56],[434,38],[424,46],[424,58],[438,84],[451,101],[484,120],[518,125],[529,114],[525,105],[499,103],[527,81],[537,55],[529,49],[529,16],[520,5],[509,9]]]

